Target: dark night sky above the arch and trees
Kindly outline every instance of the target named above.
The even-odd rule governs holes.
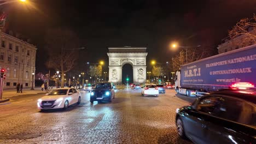
[[[44,72],[44,34],[48,28],[65,26],[79,35],[82,46],[88,48],[82,52],[81,63],[108,62],[109,46],[145,46],[148,62],[166,62],[177,53],[168,49],[173,40],[216,47],[237,21],[256,13],[256,1],[34,0],[32,7],[11,4],[5,11],[8,29],[26,35],[37,45],[36,67]]]

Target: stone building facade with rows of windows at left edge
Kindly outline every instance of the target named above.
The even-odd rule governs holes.
[[[32,86],[32,73],[36,70],[36,46],[0,32],[0,69],[5,69],[4,89]]]

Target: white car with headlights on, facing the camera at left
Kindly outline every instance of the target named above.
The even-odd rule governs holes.
[[[75,88],[53,89],[50,93],[37,100],[40,110],[67,109],[69,105],[80,104],[81,94]]]

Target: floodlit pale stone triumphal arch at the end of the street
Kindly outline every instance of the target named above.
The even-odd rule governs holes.
[[[122,82],[122,68],[132,65],[133,83],[146,83],[146,47],[109,47],[109,81]]]

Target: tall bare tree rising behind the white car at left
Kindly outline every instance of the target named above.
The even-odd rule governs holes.
[[[48,68],[59,70],[61,77],[73,69],[77,60],[79,41],[77,35],[69,29],[50,29],[46,34],[49,60],[46,62]],[[64,79],[61,81],[64,87]]]

